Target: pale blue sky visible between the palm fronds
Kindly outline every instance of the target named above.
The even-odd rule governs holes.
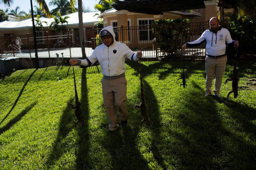
[[[54,8],[54,6],[49,6],[49,2],[51,0],[45,0],[48,8],[50,10],[52,10]],[[89,7],[91,9],[91,11],[94,11],[94,5],[97,4],[99,2],[99,0],[82,0],[83,5],[85,5],[85,7]],[[33,6],[34,5],[38,5],[37,2],[35,0],[32,0]],[[0,4],[0,9],[5,10],[6,8],[10,8],[10,9],[15,9],[16,6],[20,7],[20,10],[24,10],[26,13],[29,12],[30,9],[30,0],[14,0],[13,5],[11,5],[11,7],[5,6],[4,4]],[[39,5],[38,5],[39,6]]]

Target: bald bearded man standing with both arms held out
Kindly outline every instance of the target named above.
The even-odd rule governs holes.
[[[212,17],[209,21],[210,28],[205,30],[200,38],[193,42],[188,42],[182,46],[182,50],[187,47],[195,47],[206,42],[206,94],[211,95],[214,82],[214,95],[220,98],[220,89],[223,73],[226,68],[227,54],[226,42],[228,47],[238,47],[238,41],[232,40],[230,32],[219,25],[217,17]]]

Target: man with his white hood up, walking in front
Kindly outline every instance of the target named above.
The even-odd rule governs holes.
[[[110,132],[115,131],[119,124],[117,123],[117,108],[120,112],[121,125],[126,126],[128,112],[126,107],[127,81],[125,78],[125,58],[138,61],[142,57],[142,52],[134,53],[124,43],[115,40],[115,33],[112,26],[103,28],[100,31],[102,44],[97,46],[92,55],[87,59],[71,59],[70,65],[90,66],[97,60],[100,63],[103,78],[102,94],[104,107],[108,113]]]

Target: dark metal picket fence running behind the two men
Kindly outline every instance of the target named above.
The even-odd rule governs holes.
[[[167,25],[168,27],[168,25]],[[171,56],[205,56],[205,44],[183,52],[181,47],[184,43],[196,40],[204,30],[208,28],[208,22],[189,23],[188,29],[178,32],[175,51]],[[114,27],[115,39],[126,43],[132,50],[141,49],[143,57],[161,57],[164,52],[158,45],[155,34],[166,34],[157,32],[152,25],[136,27]],[[90,56],[97,45],[101,44],[99,37],[100,29],[90,28],[84,31],[86,56]],[[79,31],[44,32],[36,35],[39,57],[81,57],[81,46]],[[19,35],[0,37],[0,56],[35,57],[33,35]]]

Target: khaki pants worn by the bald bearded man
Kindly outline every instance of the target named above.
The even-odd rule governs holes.
[[[206,93],[211,93],[211,87],[214,82],[214,94],[220,94],[222,76],[226,68],[227,57],[210,58],[206,57]]]

